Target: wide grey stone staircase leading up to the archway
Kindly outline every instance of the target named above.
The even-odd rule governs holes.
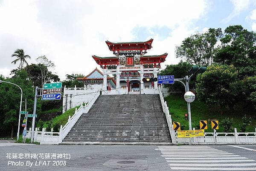
[[[172,144],[159,94],[100,95],[61,144],[89,142]]]

